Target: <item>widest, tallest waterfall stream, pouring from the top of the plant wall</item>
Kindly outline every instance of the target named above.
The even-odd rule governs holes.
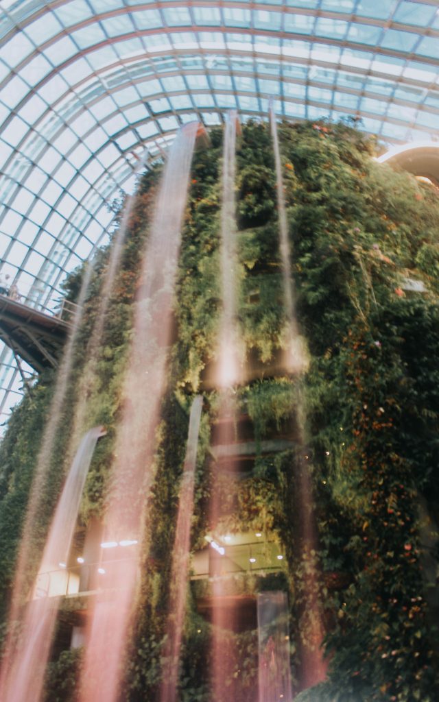
[[[105,541],[135,541],[133,556],[138,555],[143,541],[144,508],[154,479],[155,430],[165,385],[181,225],[198,128],[198,123],[181,128],[169,150],[135,303],[124,410],[117,429],[105,515]],[[97,595],[86,636],[81,702],[115,702],[119,696],[139,580],[136,557],[103,577],[104,589]]]

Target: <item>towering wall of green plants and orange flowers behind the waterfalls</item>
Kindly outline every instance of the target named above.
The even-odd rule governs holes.
[[[280,267],[275,172],[270,130],[244,125],[237,145],[237,321],[243,362],[257,359],[261,378],[237,390],[240,411],[254,428],[257,456],[240,482],[228,528],[260,528],[261,515],[284,545],[289,569],[282,583],[291,604],[291,666],[299,702],[434,702],[439,687],[435,628],[424,599],[419,501],[439,513],[439,204],[437,191],[372,156],[374,142],[344,124],[321,121],[279,126],[282,178],[291,244],[291,270],[301,334],[310,352],[308,371],[295,380],[273,377],[273,359],[287,343]],[[216,361],[221,317],[218,272],[221,230],[221,130],[196,152],[182,232],[175,296],[175,343],[157,429],[156,475],[148,523],[153,548],[145,557],[134,644],[126,664],[124,696],[155,700],[159,689],[175,534],[190,405]],[[160,168],[140,182],[122,264],[107,314],[96,375],[88,390],[87,428],[104,423],[84,491],[81,523],[101,515],[117,422],[124,407],[122,381],[132,334],[139,251],[148,237]],[[70,408],[86,369],[81,349],[90,335],[108,251],[98,253],[76,351]],[[413,277],[424,292],[405,291]],[[66,284],[70,299],[81,272]],[[271,365],[270,365],[271,364]],[[266,369],[266,372],[263,369]],[[268,370],[270,369],[270,370]],[[53,389],[39,383],[13,411],[0,446],[0,591],[6,602],[34,457]],[[211,495],[209,442],[218,395],[205,390],[195,477],[192,548],[208,529]],[[297,406],[303,407],[301,418]],[[69,428],[66,409],[35,525],[41,546],[68,466],[60,468]],[[299,422],[300,419],[300,422]],[[294,449],[275,456],[261,442],[298,436]],[[327,682],[300,691],[296,622],[306,564],[296,555],[296,475],[310,466],[329,656]],[[275,578],[274,578],[275,579]],[[266,589],[246,581],[245,588]],[[243,585],[243,587],[244,587]],[[199,586],[200,588],[201,586]],[[181,668],[182,701],[209,701],[210,625],[197,612],[201,589],[188,595]],[[246,590],[247,592],[247,590]],[[201,593],[201,594],[200,594]],[[237,637],[247,651],[247,691],[256,684],[254,635]],[[53,662],[47,702],[59,698],[61,677],[74,678],[73,654]],[[252,661],[252,662],[251,662]],[[58,682],[57,682],[58,681]],[[67,694],[67,693],[66,693]],[[70,693],[69,693],[70,694]],[[247,694],[247,693],[246,693]],[[57,696],[58,695],[58,696]],[[67,696],[65,699],[67,700]],[[72,691],[74,699],[74,691]]]

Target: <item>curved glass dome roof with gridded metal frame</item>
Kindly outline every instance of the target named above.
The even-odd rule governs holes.
[[[0,273],[53,310],[105,244],[121,197],[178,126],[359,118],[385,143],[434,140],[435,0],[1,0]],[[0,347],[0,422],[20,398]]]

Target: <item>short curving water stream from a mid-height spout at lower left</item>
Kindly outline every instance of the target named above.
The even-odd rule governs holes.
[[[58,505],[48,532],[39,574],[34,586],[34,599],[27,603],[20,640],[14,651],[13,663],[4,682],[2,700],[8,702],[39,702],[44,684],[46,664],[51,649],[55,619],[60,597],[49,597],[49,579],[54,571],[62,578],[72,546],[79,503],[91,457],[102,427],[89,430],[83,437],[65,480]],[[66,574],[67,576],[67,574]],[[63,583],[58,583],[63,585]],[[41,592],[43,588],[43,592]],[[46,589],[46,592],[44,592]],[[62,589],[59,594],[62,593]],[[37,594],[42,594],[41,598]]]

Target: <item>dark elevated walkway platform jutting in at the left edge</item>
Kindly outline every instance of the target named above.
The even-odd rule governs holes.
[[[63,312],[46,314],[0,294],[0,339],[35,371],[56,368],[70,329]]]

